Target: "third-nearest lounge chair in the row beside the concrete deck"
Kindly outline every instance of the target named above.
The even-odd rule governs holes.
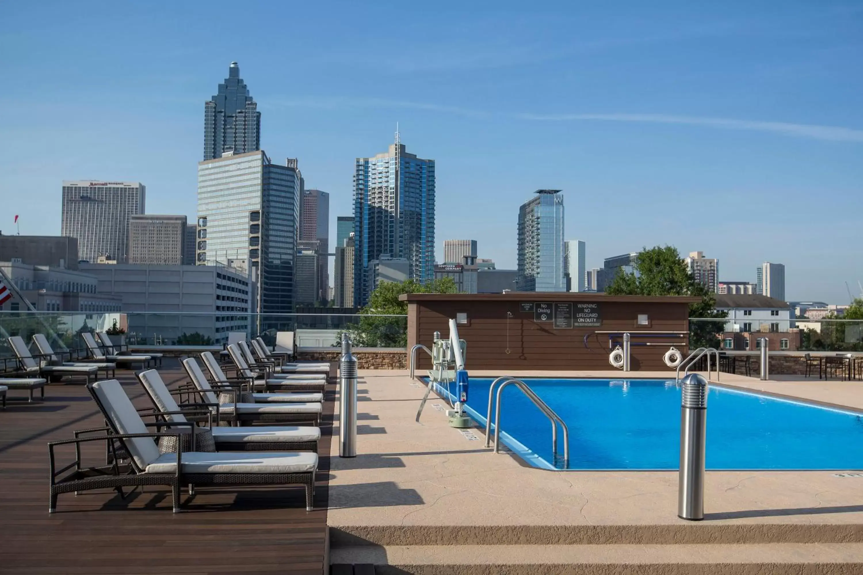
[[[265,401],[254,403],[255,394],[248,394],[252,402],[243,402],[243,391],[227,384],[210,384],[194,358],[183,359],[180,363],[186,369],[192,384],[204,403],[217,407],[210,409],[218,413],[219,422],[309,422],[317,426],[323,412],[320,402],[280,403]],[[217,395],[218,394],[218,395]],[[268,395],[268,394],[264,394]],[[319,396],[320,394],[315,394]]]

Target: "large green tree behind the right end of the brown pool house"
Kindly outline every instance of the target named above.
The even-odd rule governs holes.
[[[635,258],[631,273],[618,272],[606,293],[613,296],[695,296],[701,301],[690,303],[690,317],[722,318],[716,298],[690,274],[676,247],[644,248]],[[724,322],[691,322],[690,347],[719,347]]]

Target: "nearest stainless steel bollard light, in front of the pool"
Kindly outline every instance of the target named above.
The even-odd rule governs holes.
[[[690,373],[681,380],[680,475],[677,516],[704,518],[704,459],[707,439],[707,379]]]

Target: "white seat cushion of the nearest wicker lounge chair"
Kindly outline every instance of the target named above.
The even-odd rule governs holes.
[[[182,456],[184,473],[306,473],[318,468],[318,453],[201,453]],[[148,473],[176,473],[177,453],[163,453]]]

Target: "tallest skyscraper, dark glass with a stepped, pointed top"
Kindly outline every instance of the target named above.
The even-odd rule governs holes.
[[[231,62],[228,78],[218,93],[204,103],[204,159],[221,158],[261,149],[261,112],[240,78],[240,66]]]

